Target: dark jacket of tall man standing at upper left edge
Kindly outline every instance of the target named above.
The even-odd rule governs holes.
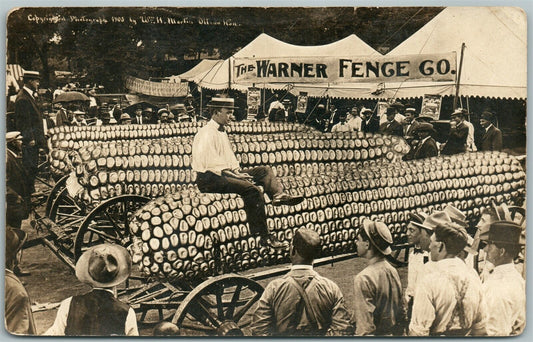
[[[22,134],[22,144],[35,141],[35,146],[46,148],[43,117],[35,99],[23,88],[15,100],[15,126]]]

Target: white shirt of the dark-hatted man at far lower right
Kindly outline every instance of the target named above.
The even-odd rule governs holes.
[[[483,283],[487,334],[518,335],[526,325],[526,282],[514,264],[496,266]]]

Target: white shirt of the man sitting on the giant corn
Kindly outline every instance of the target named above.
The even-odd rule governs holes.
[[[222,170],[239,169],[240,165],[226,132],[213,120],[198,130],[192,143],[191,167],[196,172],[211,171],[220,176]]]

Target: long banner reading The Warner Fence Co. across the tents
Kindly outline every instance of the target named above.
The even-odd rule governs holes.
[[[235,58],[235,83],[360,83],[453,81],[455,52],[365,57]]]

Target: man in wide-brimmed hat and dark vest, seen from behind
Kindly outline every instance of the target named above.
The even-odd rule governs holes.
[[[130,273],[131,257],[122,246],[105,243],[85,251],[76,263],[76,277],[93,289],[63,300],[44,335],[138,336],[135,312],[115,295]]]

